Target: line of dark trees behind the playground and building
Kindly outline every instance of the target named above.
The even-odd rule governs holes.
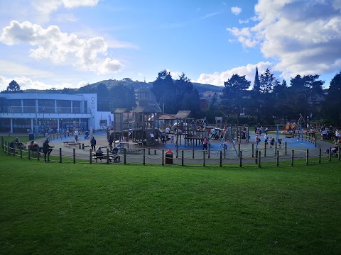
[[[285,80],[276,79],[270,69],[260,75],[257,69],[252,88],[251,81],[247,81],[245,76],[233,74],[224,81],[222,95],[215,94],[209,108],[201,108],[200,95],[184,73],[174,80],[170,72],[162,70],[151,84],[151,91],[166,113],[188,110],[193,113],[193,118],[206,117],[209,122],[215,122],[216,116],[222,116],[231,124],[274,125],[298,120],[301,114],[309,122],[319,120],[341,125],[341,71],[330,81],[329,89],[323,89],[324,83],[318,74],[298,74],[287,84]],[[16,81],[11,81],[3,92],[23,91]],[[115,108],[131,110],[136,106],[134,89],[125,86],[123,81],[115,86],[100,82],[97,86],[88,84],[80,89],[51,89],[50,92],[96,93],[99,111],[114,111]]]

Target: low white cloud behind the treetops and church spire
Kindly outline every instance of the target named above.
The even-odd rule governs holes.
[[[224,86],[224,81],[227,81],[232,77],[233,74],[239,74],[239,76],[244,76],[245,79],[251,81],[251,86],[254,84],[254,75],[256,73],[256,67],[258,67],[258,72],[261,74],[266,70],[266,68],[271,68],[271,62],[259,62],[257,64],[247,64],[244,67],[235,67],[224,72],[215,72],[214,74],[200,74],[199,78],[195,82],[201,84],[212,84],[216,86]]]

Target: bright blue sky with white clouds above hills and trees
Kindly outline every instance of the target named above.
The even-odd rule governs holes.
[[[341,70],[341,0],[0,0],[0,91]]]

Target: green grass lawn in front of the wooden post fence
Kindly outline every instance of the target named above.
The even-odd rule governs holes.
[[[340,254],[340,162],[58,164],[0,152],[1,254]]]

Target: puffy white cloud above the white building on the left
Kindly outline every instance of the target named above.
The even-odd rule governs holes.
[[[3,29],[0,41],[6,45],[32,45],[35,48],[30,50],[30,56],[36,60],[73,64],[77,69],[97,74],[120,72],[124,67],[119,60],[100,58],[107,55],[107,43],[103,38],[80,39],[75,34],[62,33],[58,26],[44,29],[28,21],[11,21],[10,26]]]

